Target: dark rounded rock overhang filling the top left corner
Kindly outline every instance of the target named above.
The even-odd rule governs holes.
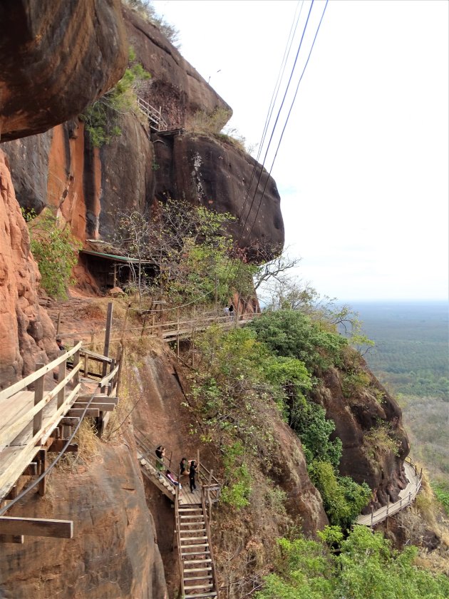
[[[0,23],[1,141],[81,113],[125,70],[120,0],[4,0]]]

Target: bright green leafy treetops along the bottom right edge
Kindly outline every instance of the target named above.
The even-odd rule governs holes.
[[[448,597],[449,579],[413,565],[413,546],[396,551],[381,533],[363,526],[356,526],[346,540],[338,528],[326,527],[321,539],[280,539],[277,573],[265,578],[257,599]]]

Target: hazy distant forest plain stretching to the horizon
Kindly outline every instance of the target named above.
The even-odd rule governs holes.
[[[403,409],[414,459],[449,492],[449,318],[446,302],[351,304],[376,345],[368,366]]]

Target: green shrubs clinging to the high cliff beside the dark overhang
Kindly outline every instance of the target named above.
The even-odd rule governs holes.
[[[139,111],[137,93],[150,77],[150,73],[135,61],[135,53],[131,48],[129,66],[123,77],[115,87],[88,106],[80,116],[91,144],[95,148],[100,148],[110,143],[114,137],[121,135],[119,116]]]

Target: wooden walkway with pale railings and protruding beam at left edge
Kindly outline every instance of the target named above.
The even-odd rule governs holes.
[[[1,542],[23,543],[25,535],[71,538],[71,521],[9,518],[3,514],[36,484],[38,493],[45,494],[46,472],[54,465],[54,461],[47,465],[47,454],[60,457],[63,451],[78,451],[71,438],[83,418],[95,417],[101,434],[118,403],[114,391],[119,373],[120,364],[115,359],[89,352],[77,342],[53,362],[36,364],[36,372],[0,391]],[[25,476],[38,479],[22,491]]]

